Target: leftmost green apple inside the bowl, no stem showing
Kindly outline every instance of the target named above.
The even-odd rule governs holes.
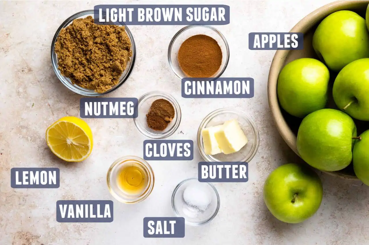
[[[323,109],[328,99],[329,70],[319,60],[300,58],[279,73],[277,95],[282,108],[295,117]]]

